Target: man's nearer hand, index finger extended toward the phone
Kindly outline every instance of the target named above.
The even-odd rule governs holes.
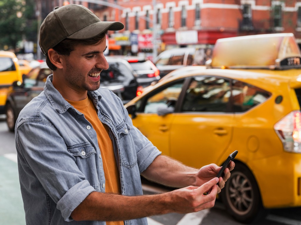
[[[189,186],[169,192],[171,211],[190,213],[212,208],[216,200],[218,181],[219,179],[213,178],[200,187]],[[208,195],[203,194],[208,191]]]

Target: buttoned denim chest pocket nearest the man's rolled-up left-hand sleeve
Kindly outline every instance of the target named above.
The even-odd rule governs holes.
[[[75,163],[85,179],[95,190],[99,189],[100,179],[96,164],[96,151],[90,143],[71,146],[68,151],[75,158]]]

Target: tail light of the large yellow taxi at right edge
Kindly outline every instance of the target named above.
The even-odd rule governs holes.
[[[286,152],[301,153],[301,112],[293,111],[274,125]]]

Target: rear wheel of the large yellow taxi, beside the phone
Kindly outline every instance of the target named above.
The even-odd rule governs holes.
[[[222,189],[221,198],[227,211],[242,223],[258,222],[268,212],[262,206],[259,188],[253,174],[240,162],[235,162],[235,168]]]

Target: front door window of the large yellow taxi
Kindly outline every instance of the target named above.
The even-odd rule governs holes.
[[[170,113],[173,112],[182,91],[183,83],[184,80],[180,80],[151,95],[146,100],[144,110],[142,111],[144,113],[157,113],[159,108],[163,108],[168,109]]]

